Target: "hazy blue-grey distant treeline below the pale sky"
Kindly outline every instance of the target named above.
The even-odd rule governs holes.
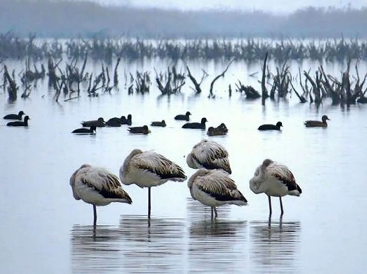
[[[178,11],[101,6],[91,1],[0,0],[0,32],[38,37],[139,36],[214,37],[367,37],[367,7],[308,7],[289,15],[262,11]]]

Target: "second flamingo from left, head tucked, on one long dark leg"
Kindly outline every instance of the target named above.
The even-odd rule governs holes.
[[[187,179],[183,169],[155,151],[134,149],[120,167],[120,180],[125,185],[148,187],[148,219],[150,219],[150,188],[167,181],[183,182]]]

